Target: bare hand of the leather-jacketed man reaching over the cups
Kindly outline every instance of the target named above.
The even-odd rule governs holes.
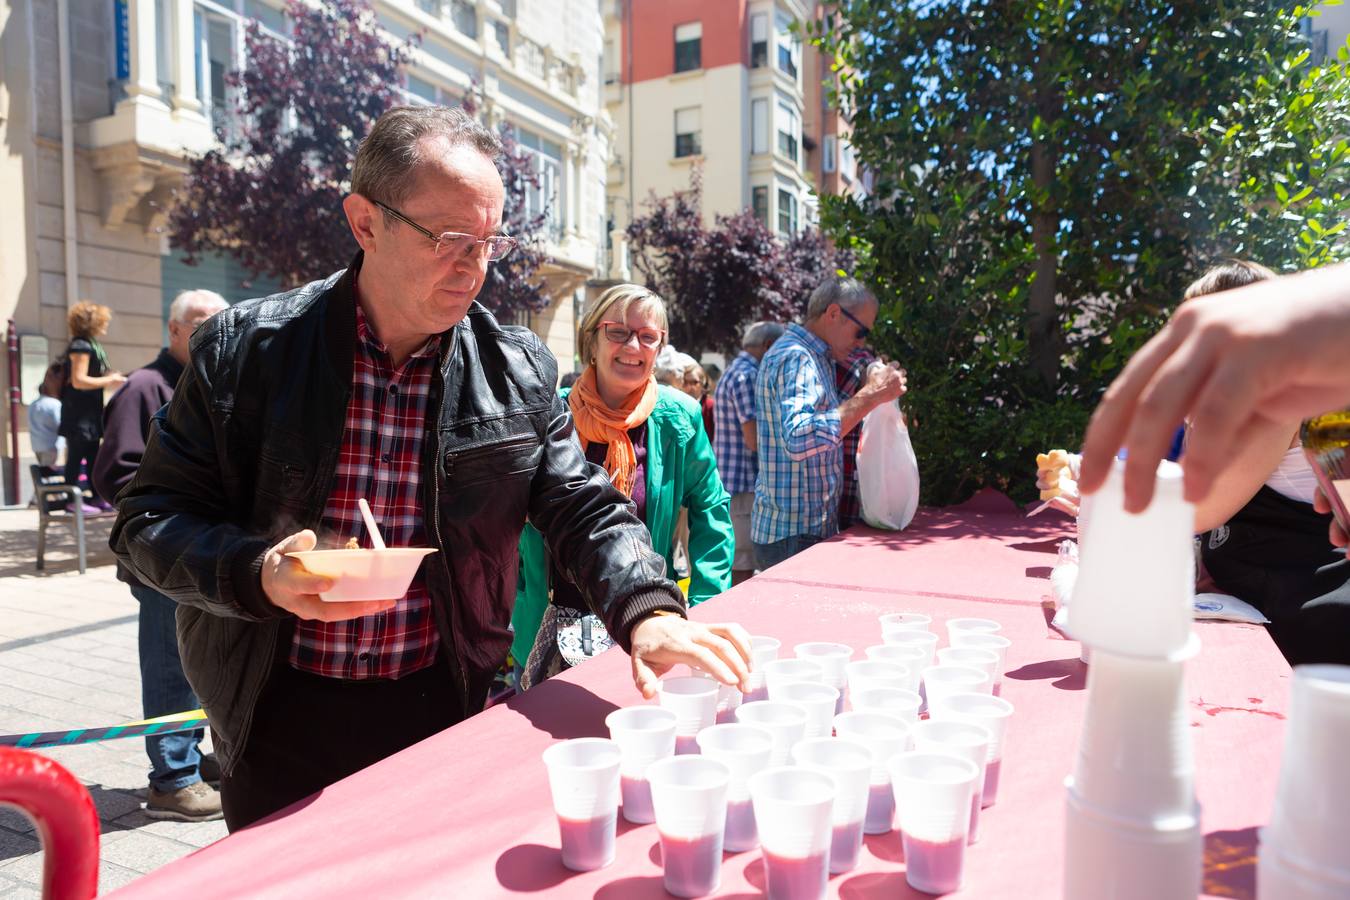
[[[702,625],[678,615],[651,615],[633,626],[633,684],[656,696],[660,676],[671,667],[697,665],[722,684],[745,687],[751,636],[740,625]]]

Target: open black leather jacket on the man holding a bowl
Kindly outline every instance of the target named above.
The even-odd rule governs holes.
[[[289,652],[296,619],[262,592],[262,560],[323,517],[351,394],[360,259],[204,324],[117,498],[112,549],[180,603],[184,671],[225,772]],[[446,335],[423,461],[427,534],[440,552],[424,572],[468,712],[510,645],[526,517],[625,650],[640,618],[684,606],[632,505],[585,460],[556,378],[537,337],[478,304]]]

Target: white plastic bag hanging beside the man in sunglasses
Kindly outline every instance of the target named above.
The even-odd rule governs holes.
[[[899,532],[919,505],[919,464],[900,405],[882,403],[863,420],[857,444],[857,486],[863,521]]]

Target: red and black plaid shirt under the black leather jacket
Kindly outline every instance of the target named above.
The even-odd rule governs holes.
[[[440,337],[432,337],[396,370],[356,304],[351,399],[323,518],[321,534],[332,546],[342,546],[348,537],[370,546],[356,507],[362,497],[389,546],[427,546],[423,440],[439,351]],[[387,613],[347,622],[298,622],[290,665],[333,679],[400,679],[435,663],[439,644],[431,596],[418,569],[408,594]]]

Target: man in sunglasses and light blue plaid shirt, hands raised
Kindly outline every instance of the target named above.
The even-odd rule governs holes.
[[[876,297],[830,275],[811,291],[806,321],[787,327],[755,382],[759,478],[751,540],[761,569],[838,532],[844,436],[876,406],[905,394],[905,374],[879,367],[857,394],[840,398],[834,362],[863,347]]]

